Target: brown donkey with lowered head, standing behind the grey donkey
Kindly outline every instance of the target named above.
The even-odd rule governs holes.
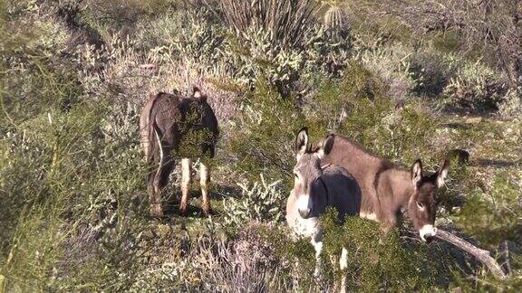
[[[427,241],[435,236],[437,190],[448,175],[448,160],[437,172],[423,175],[420,160],[411,170],[403,170],[346,137],[331,134],[321,146],[327,149],[321,163],[342,165],[361,186],[362,218],[382,222],[389,229],[396,224],[398,213],[408,211],[420,239]]]

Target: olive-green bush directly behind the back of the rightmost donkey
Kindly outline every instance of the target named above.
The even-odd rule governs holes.
[[[309,124],[350,137],[392,161],[410,165],[417,157],[433,159],[430,139],[438,119],[415,101],[395,106],[384,83],[352,62],[343,80],[322,83],[304,114]]]

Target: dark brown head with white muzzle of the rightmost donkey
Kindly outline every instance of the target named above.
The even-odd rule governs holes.
[[[430,175],[422,175],[422,163],[415,161],[411,166],[411,181],[413,194],[408,203],[408,210],[415,229],[419,231],[422,241],[430,241],[435,236],[435,215],[439,197],[438,189],[444,185],[448,175],[449,161],[445,160],[440,169]]]

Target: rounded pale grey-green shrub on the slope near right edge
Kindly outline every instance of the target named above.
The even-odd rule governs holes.
[[[444,89],[449,103],[473,109],[498,109],[506,92],[506,77],[480,61],[460,67]]]

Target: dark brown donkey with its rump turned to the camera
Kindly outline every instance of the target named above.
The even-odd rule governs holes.
[[[140,116],[141,145],[148,163],[158,164],[148,175],[150,215],[163,215],[161,192],[174,168],[174,157],[181,158],[181,203],[179,211],[187,213],[190,184],[190,160],[214,157],[218,141],[218,119],[207,102],[207,96],[194,88],[191,98],[175,92],[151,95]],[[210,213],[208,184],[210,171],[201,160],[200,185],[202,209]]]

